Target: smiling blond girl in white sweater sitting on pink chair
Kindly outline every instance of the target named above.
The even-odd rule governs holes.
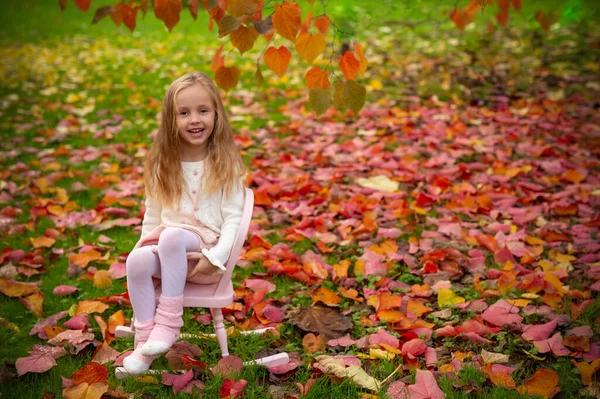
[[[186,280],[215,282],[215,273],[225,270],[241,220],[245,174],[214,83],[202,73],[175,80],[146,159],[142,235],[127,258],[135,313],[134,351],[123,361],[129,373],[147,371],[179,338]],[[201,252],[189,267],[187,252]],[[153,275],[162,284],[158,306]]]

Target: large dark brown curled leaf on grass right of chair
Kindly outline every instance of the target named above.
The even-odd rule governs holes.
[[[352,329],[352,320],[338,309],[315,305],[302,309],[292,319],[294,325],[307,332],[324,334],[328,339],[340,338]]]

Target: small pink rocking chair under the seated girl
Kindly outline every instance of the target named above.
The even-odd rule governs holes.
[[[240,227],[237,232],[229,259],[225,265],[225,272],[221,275],[215,276],[215,282],[209,284],[193,284],[186,283],[183,291],[183,306],[184,307],[198,307],[198,308],[210,308],[210,312],[213,318],[216,334],[210,336],[216,336],[221,347],[221,354],[223,357],[229,356],[229,350],[227,347],[227,332],[223,325],[223,313],[222,308],[230,306],[233,303],[234,292],[233,284],[231,282],[231,275],[233,268],[236,265],[240,251],[246,240],[248,228],[250,227],[250,220],[252,219],[252,209],[254,207],[254,193],[250,189],[246,189],[246,195],[244,200],[244,208],[242,211],[242,220]],[[157,246],[155,246],[156,250]],[[160,280],[157,281],[156,286],[156,297],[158,298],[160,289]],[[242,331],[242,334],[261,334],[268,329],[259,329],[252,331]],[[117,337],[131,336],[134,334],[133,322],[131,326],[119,326],[115,331]],[[182,334],[185,338],[189,334]],[[265,366],[278,366],[289,362],[289,356],[287,353],[278,353],[273,356],[256,359],[253,361],[245,362],[244,365],[265,365]],[[160,373],[162,370],[150,370],[150,373]],[[117,378],[125,378],[129,375],[124,367],[117,367],[115,371]]]

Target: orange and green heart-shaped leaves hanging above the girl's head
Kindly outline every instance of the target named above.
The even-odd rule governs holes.
[[[67,0],[60,0],[59,4],[64,10]],[[315,0],[308,1],[311,6]],[[74,0],[74,3],[84,12],[90,8],[91,0]],[[304,20],[302,9],[297,2],[282,1],[274,4],[274,11],[270,15],[264,13],[264,0],[203,0],[202,7],[208,12],[210,22],[209,30],[215,25],[220,38],[228,37],[231,45],[239,50],[240,54],[255,48],[260,36],[266,41],[266,46],[256,61],[255,80],[262,83],[264,77],[261,65],[266,66],[275,75],[285,75],[290,61],[292,49],[307,64],[317,63],[321,66],[312,66],[306,72],[306,84],[310,89],[309,104],[317,114],[325,112],[332,104],[340,109],[350,109],[355,114],[361,110],[366,100],[364,85],[356,80],[364,77],[367,69],[367,58],[360,44],[353,44],[353,48],[344,49],[340,54],[333,48],[327,60],[325,54],[327,36],[332,26],[327,14],[312,18],[309,12]],[[189,0],[187,8],[194,20],[198,16],[200,2]],[[184,9],[182,0],[142,0],[119,2],[113,6],[103,6],[96,9],[93,23],[109,16],[115,25],[124,24],[132,32],[136,27],[136,18],[141,11],[144,16],[154,8],[154,16],[164,22],[171,32],[179,22],[180,14]],[[335,27],[334,27],[335,29]],[[332,32],[335,37],[335,31]],[[274,37],[278,35],[285,39],[282,45],[274,44]],[[335,40],[334,40],[335,42]],[[212,57],[211,69],[215,74],[217,85],[225,91],[232,90],[238,85],[242,71],[232,62],[226,62],[222,54],[223,46]],[[342,72],[343,79],[333,87],[329,77],[335,75],[334,57],[338,58],[337,67]],[[261,62],[262,59],[262,62]]]

